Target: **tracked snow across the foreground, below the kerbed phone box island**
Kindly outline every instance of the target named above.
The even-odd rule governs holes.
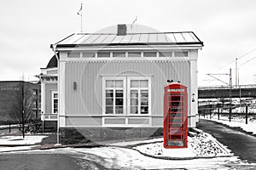
[[[166,160],[148,157],[142,155],[137,150],[132,150],[123,147],[97,147],[91,149],[59,149],[53,150],[63,151],[64,153],[77,153],[82,156],[82,159],[95,161],[104,165],[108,169],[243,169],[242,167],[256,167],[254,164],[249,164],[241,161],[236,156],[225,156],[207,159],[192,159],[192,160]],[[233,168],[236,167],[236,168]],[[238,168],[237,168],[238,167]],[[247,168],[245,168],[247,169]]]

